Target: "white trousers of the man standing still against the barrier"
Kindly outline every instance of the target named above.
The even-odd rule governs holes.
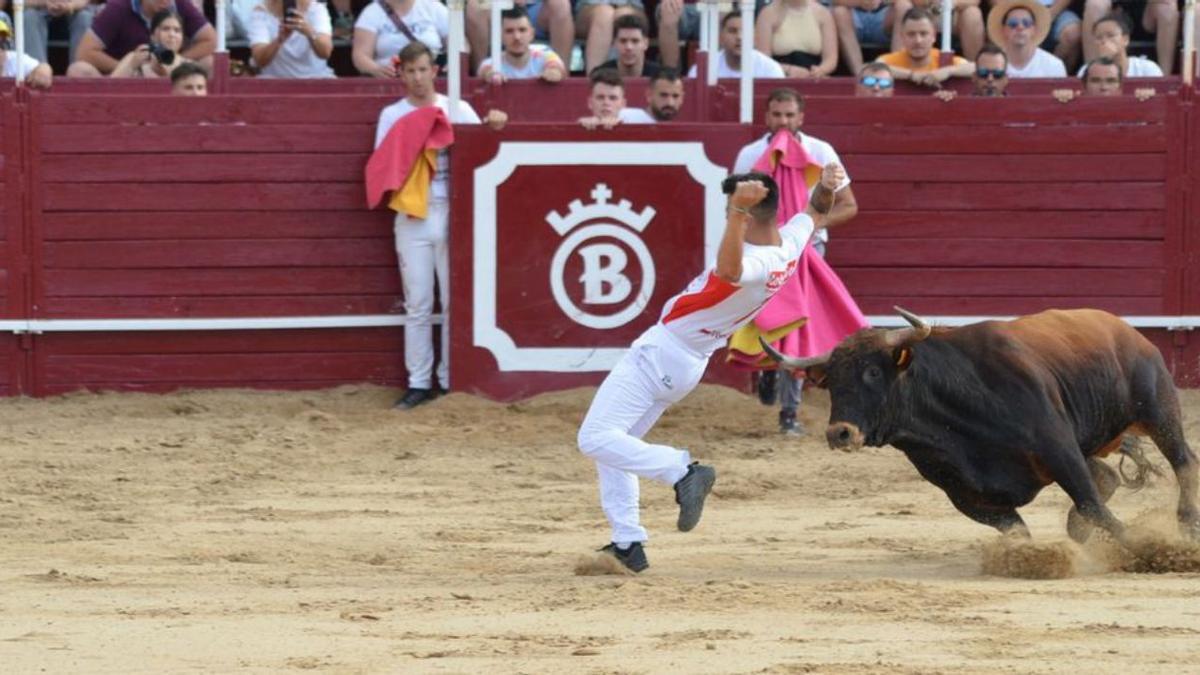
[[[431,201],[425,220],[396,214],[396,256],[404,286],[404,369],[408,386],[428,389],[433,384],[433,280],[442,300],[442,362],[438,383],[450,388],[450,208]]]

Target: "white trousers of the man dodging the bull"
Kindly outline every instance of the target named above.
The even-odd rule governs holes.
[[[600,504],[618,544],[644,542],[638,518],[638,477],[674,485],[686,476],[691,455],[642,441],[671,404],[704,375],[698,354],[660,325],[642,334],[596,390],[580,426],[580,450],[595,460]]]

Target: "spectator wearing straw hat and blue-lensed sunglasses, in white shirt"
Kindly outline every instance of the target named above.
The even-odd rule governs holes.
[[[1039,0],[1001,0],[991,10],[988,38],[1008,56],[1009,77],[1067,77],[1062,59],[1039,47],[1050,35],[1051,20]],[[1078,19],[1074,30],[1078,38]]]

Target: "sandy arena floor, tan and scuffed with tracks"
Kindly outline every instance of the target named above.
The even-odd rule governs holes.
[[[410,413],[372,387],[2,400],[0,670],[1200,668],[1200,573],[1066,544],[1057,488],[1022,513],[1070,575],[985,575],[997,536],[898,450],[784,438],[722,388],[652,432],[718,467],[700,527],[676,532],[673,494],[643,483],[650,569],[576,575],[607,534],[574,448],[590,394]],[[806,405],[823,431],[824,399]],[[1200,393],[1184,406],[1198,447]],[[1174,504],[1172,477],[1111,502],[1151,524]]]

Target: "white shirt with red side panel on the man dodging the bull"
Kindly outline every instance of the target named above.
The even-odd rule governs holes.
[[[709,268],[674,298],[659,317],[668,333],[701,354],[725,346],[734,330],[750,323],[796,273],[812,237],[812,219],[797,214],[779,229],[780,246],[743,244],[742,279],[730,283]]]

